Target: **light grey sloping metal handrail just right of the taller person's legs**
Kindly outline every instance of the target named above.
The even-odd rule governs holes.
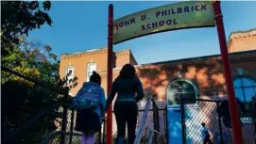
[[[141,125],[138,128],[134,144],[139,144],[140,141],[141,141],[141,138],[142,138],[142,135],[143,135],[143,132],[144,132],[144,129],[145,129],[145,124],[144,123],[147,120],[147,114],[148,114],[148,109],[150,107],[150,102],[151,102],[151,98],[149,97],[149,98],[147,98],[147,101],[146,101],[146,104],[145,104],[145,112],[142,116]]]

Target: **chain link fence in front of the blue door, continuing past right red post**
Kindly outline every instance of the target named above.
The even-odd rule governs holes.
[[[191,102],[196,103],[191,103]],[[210,139],[214,144],[233,143],[233,134],[229,128],[230,120],[218,113],[222,101],[211,100],[181,100],[181,119],[183,120],[183,139],[186,144],[203,143],[202,122],[209,128]],[[244,144],[255,144],[255,117],[253,117],[251,104],[243,104],[246,111],[240,113]],[[255,115],[254,115],[255,116]]]

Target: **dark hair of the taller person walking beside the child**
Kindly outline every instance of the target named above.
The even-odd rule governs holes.
[[[136,76],[136,70],[131,64],[126,64],[123,66],[122,70],[119,72],[119,78],[122,79],[132,79]]]

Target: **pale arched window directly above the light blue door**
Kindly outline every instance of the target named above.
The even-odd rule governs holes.
[[[179,105],[180,97],[187,99],[197,98],[196,86],[184,79],[177,79],[171,82],[166,88],[166,98],[168,105]],[[186,101],[188,104],[196,104],[195,101]]]

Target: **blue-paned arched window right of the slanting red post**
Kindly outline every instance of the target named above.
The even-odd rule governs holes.
[[[256,82],[249,76],[238,76],[233,81],[235,96],[241,102],[250,102],[256,96]]]

